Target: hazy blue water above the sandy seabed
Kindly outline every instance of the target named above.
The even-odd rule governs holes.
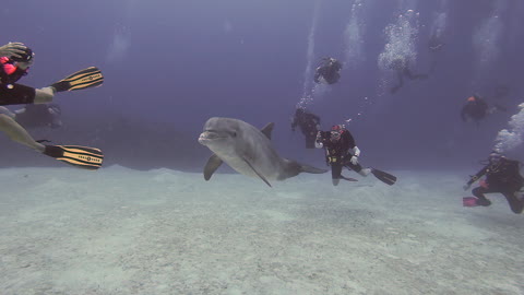
[[[289,128],[303,97],[323,129],[352,119],[370,165],[476,169],[522,103],[523,15],[522,1],[504,0],[8,1],[0,9],[1,43],[36,52],[21,83],[45,86],[88,66],[106,78],[102,87],[58,94],[64,127],[46,138],[96,145],[107,164],[182,169],[203,165],[209,151],[196,138],[213,116],[274,121],[283,155],[323,163]],[[445,43],[438,54],[428,50],[431,34]],[[312,67],[325,56],[344,62],[342,79],[318,87]],[[415,72],[437,67],[391,95],[396,80],[385,63],[396,56]],[[493,98],[498,85],[510,95]],[[473,93],[508,113],[479,127],[462,122]],[[60,165],[0,141],[7,165]]]

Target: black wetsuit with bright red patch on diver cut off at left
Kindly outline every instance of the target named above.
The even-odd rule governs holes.
[[[34,103],[35,88],[15,83],[26,74],[27,69],[15,67],[12,59],[0,58],[0,106]]]

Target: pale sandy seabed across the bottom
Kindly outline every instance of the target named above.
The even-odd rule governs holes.
[[[524,216],[471,172],[331,185],[0,169],[0,294],[524,294]],[[359,177],[345,172],[347,176]]]

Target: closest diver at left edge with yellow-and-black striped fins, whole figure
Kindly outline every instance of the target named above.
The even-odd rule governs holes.
[[[22,43],[0,46],[0,105],[49,103],[57,92],[95,87],[104,82],[102,72],[91,67],[43,88],[17,84],[33,60],[33,50]],[[97,169],[104,160],[102,151],[95,148],[41,144],[44,141],[35,141],[9,114],[0,114],[0,131],[17,143],[76,167]]]

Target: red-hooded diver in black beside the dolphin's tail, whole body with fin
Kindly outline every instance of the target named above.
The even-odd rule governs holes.
[[[341,179],[357,181],[354,178],[343,176],[343,167],[355,170],[361,176],[368,176],[368,174],[371,173],[377,179],[390,186],[396,181],[395,176],[385,172],[376,168],[362,168],[358,163],[360,150],[355,144],[355,139],[352,133],[349,133],[344,125],[335,125],[331,128],[331,131],[319,131],[314,145],[317,149],[325,149],[325,161],[326,164],[331,166],[333,186],[337,186]],[[349,153],[349,150],[353,154]]]

